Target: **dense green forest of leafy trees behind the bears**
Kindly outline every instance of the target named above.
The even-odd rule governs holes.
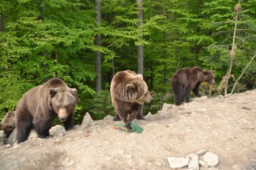
[[[0,120],[53,77],[78,89],[75,123],[114,115],[110,82],[126,69],[149,86],[145,114],[173,103],[171,77],[184,67],[215,70],[204,95],[255,89],[255,9],[256,0],[1,0]]]

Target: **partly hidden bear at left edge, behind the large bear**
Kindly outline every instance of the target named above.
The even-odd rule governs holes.
[[[9,111],[4,116],[0,123],[0,130],[4,130],[6,137],[11,135],[12,130],[15,128],[15,111]]]

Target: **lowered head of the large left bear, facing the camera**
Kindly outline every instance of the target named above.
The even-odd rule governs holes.
[[[50,106],[61,122],[73,113],[75,104],[79,102],[76,89],[50,88]]]

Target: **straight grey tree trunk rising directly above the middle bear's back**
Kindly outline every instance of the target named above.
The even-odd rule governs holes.
[[[137,6],[138,6],[138,27],[139,26],[142,26],[142,23],[143,23],[143,0],[137,0]],[[140,30],[140,35],[139,35],[139,38],[143,38],[143,30],[141,29]],[[144,57],[143,57],[143,45],[139,45],[138,46],[138,74],[142,74],[143,75],[143,68],[144,68],[144,65],[143,65],[143,61],[144,60]]]

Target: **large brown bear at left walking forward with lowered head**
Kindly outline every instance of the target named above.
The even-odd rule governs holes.
[[[74,128],[71,120],[78,101],[77,90],[70,89],[58,78],[27,91],[16,108],[17,142],[27,140],[32,129],[36,130],[38,137],[48,137],[53,118],[57,115],[65,130]]]

